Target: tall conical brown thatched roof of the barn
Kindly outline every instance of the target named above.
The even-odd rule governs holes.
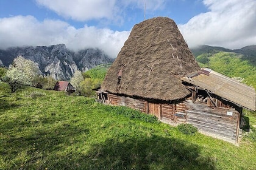
[[[177,100],[190,94],[180,78],[198,70],[176,23],[157,17],[134,25],[101,88],[114,94]]]

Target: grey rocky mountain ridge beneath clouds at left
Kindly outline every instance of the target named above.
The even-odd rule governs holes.
[[[10,47],[0,50],[0,60],[7,67],[18,55],[38,63],[42,73],[51,75],[56,80],[69,80],[76,70],[87,71],[99,64],[113,63],[113,59],[99,49],[73,52],[67,49],[65,44],[49,47]]]

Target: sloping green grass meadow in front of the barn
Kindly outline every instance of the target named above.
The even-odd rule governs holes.
[[[1,90],[1,89],[0,89]],[[234,146],[127,107],[34,88],[0,91],[0,169],[255,169],[256,141]],[[254,114],[247,114],[253,117]]]

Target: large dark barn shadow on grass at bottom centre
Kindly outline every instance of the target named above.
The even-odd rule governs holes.
[[[88,169],[215,169],[200,148],[176,138],[159,136],[107,140],[92,147]]]

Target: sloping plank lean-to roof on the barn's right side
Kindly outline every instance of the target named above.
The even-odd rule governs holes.
[[[209,90],[238,106],[255,110],[255,89],[211,69],[203,68],[197,75],[181,78],[190,84]]]

